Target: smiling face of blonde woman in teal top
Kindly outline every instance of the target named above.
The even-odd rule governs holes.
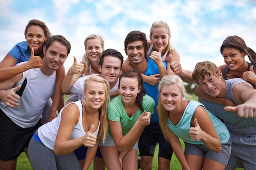
[[[177,111],[184,95],[176,84],[164,85],[159,93],[160,101],[167,111]]]

